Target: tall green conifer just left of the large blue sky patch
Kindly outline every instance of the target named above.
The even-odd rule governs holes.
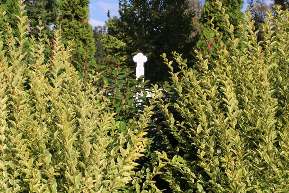
[[[93,58],[95,54],[92,26],[88,23],[90,1],[58,0],[57,3],[60,18],[63,18],[62,33],[66,34],[66,41],[74,39],[74,58],[83,64],[86,54],[88,58]]]

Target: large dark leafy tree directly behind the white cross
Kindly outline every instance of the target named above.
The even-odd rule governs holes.
[[[164,80],[168,74],[159,55],[172,50],[192,51],[192,12],[186,0],[119,1],[119,19],[107,23],[108,34],[103,39],[109,55],[126,54],[131,58],[137,52],[148,57],[146,79]],[[130,62],[132,63],[132,62]]]

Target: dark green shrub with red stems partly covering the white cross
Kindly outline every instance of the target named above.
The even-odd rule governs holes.
[[[117,120],[131,122],[142,114],[144,105],[149,101],[147,95],[152,89],[147,85],[148,80],[143,82],[142,78],[136,79],[135,72],[117,57],[113,66],[103,67],[101,79],[110,85],[105,95],[112,101],[111,108],[118,113]],[[108,67],[112,72],[107,72]]]

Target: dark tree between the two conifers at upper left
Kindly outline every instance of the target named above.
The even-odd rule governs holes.
[[[32,0],[25,1],[27,10],[27,16],[29,19],[35,19],[38,21],[38,17],[41,16],[42,26],[44,27],[42,30],[43,34],[46,34],[48,38],[54,36],[53,31],[50,27],[54,27],[57,23],[58,11],[57,11],[57,1],[56,0]],[[52,25],[52,26],[51,26]],[[30,25],[30,27],[33,27]],[[37,36],[38,34],[37,28],[31,31],[30,33]]]

